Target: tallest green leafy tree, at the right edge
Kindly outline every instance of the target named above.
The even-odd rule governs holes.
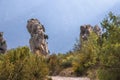
[[[100,63],[98,71],[100,80],[120,79],[120,18],[109,13],[101,23],[105,30],[103,34],[103,46],[101,49]],[[107,75],[109,73],[109,75]],[[106,75],[106,76],[104,76]]]

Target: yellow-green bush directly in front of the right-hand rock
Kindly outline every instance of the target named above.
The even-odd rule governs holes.
[[[87,75],[87,70],[98,63],[100,46],[97,39],[97,35],[91,32],[88,40],[81,43],[81,49],[75,52],[77,59],[73,62],[73,69],[77,76]]]

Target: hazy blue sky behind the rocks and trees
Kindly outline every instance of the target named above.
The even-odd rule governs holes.
[[[27,20],[37,18],[49,35],[49,50],[65,53],[79,37],[80,25],[99,24],[109,11],[119,10],[120,0],[0,0],[0,31],[8,49],[29,46]]]

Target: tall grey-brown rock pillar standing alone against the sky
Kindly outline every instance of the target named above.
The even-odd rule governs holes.
[[[44,26],[37,19],[30,19],[27,23],[27,30],[31,35],[29,40],[31,51],[35,54],[48,54],[47,41]]]

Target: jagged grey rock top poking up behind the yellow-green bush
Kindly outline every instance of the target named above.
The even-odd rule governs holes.
[[[89,24],[80,26],[80,38],[83,41],[87,40],[90,32],[92,31],[95,32],[98,36],[101,36],[101,29],[98,25],[95,25],[94,27]]]

